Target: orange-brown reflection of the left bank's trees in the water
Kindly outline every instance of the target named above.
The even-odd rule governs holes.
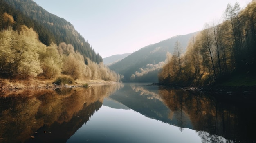
[[[29,141],[30,136],[35,137],[31,141],[66,141],[119,88],[118,84],[74,88],[67,95],[43,89],[0,93],[0,143]]]

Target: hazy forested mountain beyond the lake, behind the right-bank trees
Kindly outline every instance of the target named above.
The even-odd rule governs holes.
[[[151,44],[130,54],[121,61],[109,66],[111,70],[123,75],[122,81],[157,82],[158,71],[166,60],[166,53],[173,53],[175,42],[179,41],[185,48],[189,39],[197,32],[178,35],[161,42]],[[132,77],[133,76],[133,77]]]

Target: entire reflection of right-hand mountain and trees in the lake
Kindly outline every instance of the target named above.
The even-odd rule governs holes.
[[[223,101],[202,92],[124,84],[110,99],[149,118],[191,128],[202,142],[252,142],[256,128],[256,104]],[[233,141],[228,141],[228,140]]]

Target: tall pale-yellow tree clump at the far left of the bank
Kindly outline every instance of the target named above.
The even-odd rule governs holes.
[[[36,44],[38,35],[26,26],[20,33],[11,28],[1,31],[1,67],[2,73],[17,77],[36,77],[43,70],[38,59]]]

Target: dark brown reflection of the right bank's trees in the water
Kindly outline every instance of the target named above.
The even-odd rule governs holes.
[[[254,138],[251,131],[253,128],[248,127],[251,125],[256,127],[253,121],[255,107],[250,108],[241,103],[234,105],[204,95],[202,92],[159,89],[159,95],[163,103],[172,111],[170,114],[175,113],[180,129],[182,130],[186,125],[183,122],[186,121],[183,120],[183,116],[187,115],[193,125],[193,130],[198,130],[198,134],[205,142],[211,140],[210,142],[213,143],[215,141],[221,143],[223,139],[220,136],[242,142]],[[202,134],[203,131],[209,134]]]

